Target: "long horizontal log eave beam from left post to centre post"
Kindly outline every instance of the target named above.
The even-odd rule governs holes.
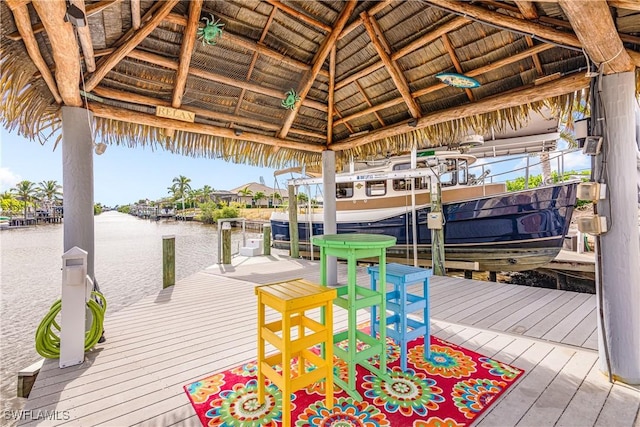
[[[111,107],[97,102],[90,102],[89,110],[93,112],[94,117],[119,120],[126,123],[136,123],[143,126],[153,126],[160,129],[174,129],[183,132],[192,132],[207,136],[217,136],[221,138],[229,138],[240,141],[249,141],[258,144],[269,145],[272,147],[288,148],[291,150],[306,151],[311,153],[321,153],[325,150],[324,145],[289,141],[252,132],[243,132],[241,136],[238,136],[235,134],[233,129],[201,123],[190,123],[180,120],[167,119],[164,117],[157,117],[155,115],[140,113],[124,108]]]

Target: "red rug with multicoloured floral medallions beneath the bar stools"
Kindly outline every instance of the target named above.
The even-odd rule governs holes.
[[[291,396],[291,425],[362,427],[457,427],[471,424],[524,371],[431,337],[424,360],[422,338],[409,343],[407,370],[400,348],[387,342],[391,381],[357,367],[358,402],[336,386],[333,408],[324,407],[324,382]],[[313,366],[307,366],[313,369]],[[295,370],[292,370],[295,372]],[[334,358],[334,372],[346,379],[346,364]],[[275,427],[282,421],[278,388],[269,383],[265,404],[257,403],[255,362],[184,386],[204,426]]]

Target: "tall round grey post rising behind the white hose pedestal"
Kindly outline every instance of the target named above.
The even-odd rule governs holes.
[[[93,113],[89,110],[62,107],[64,251],[74,246],[86,250],[87,274],[94,279],[93,135],[90,121],[93,121]]]

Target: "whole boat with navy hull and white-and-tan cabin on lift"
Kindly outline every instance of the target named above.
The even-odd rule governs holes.
[[[507,192],[505,183],[485,182],[489,170],[471,173],[475,162],[468,153],[422,151],[352,164],[336,174],[337,232],[394,236],[389,257],[409,260],[416,251],[431,259],[431,190],[439,182],[447,261],[477,262],[481,271],[532,270],[552,261],[569,231],[579,181]],[[309,251],[310,236],[323,234],[323,214],[306,209],[297,219],[300,249]],[[289,213],[274,212],[270,223],[274,247],[288,248]]]

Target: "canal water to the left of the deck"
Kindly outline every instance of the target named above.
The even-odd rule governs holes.
[[[95,217],[96,279],[108,300],[107,316],[162,288],[164,235],[175,235],[177,280],[218,260],[216,226],[155,222],[115,211]],[[232,248],[241,240],[241,233],[235,232]],[[60,298],[63,226],[3,230],[0,247],[0,382],[4,411],[21,409],[26,402],[16,397],[17,372],[40,359],[34,347],[35,331],[51,304]],[[108,334],[106,331],[107,339]]]

